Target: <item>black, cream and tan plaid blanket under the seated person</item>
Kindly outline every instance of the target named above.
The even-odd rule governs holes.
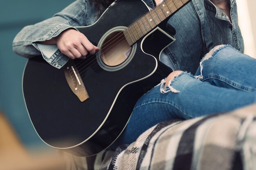
[[[256,105],[161,122],[130,145],[92,157],[67,154],[67,170],[255,170]]]

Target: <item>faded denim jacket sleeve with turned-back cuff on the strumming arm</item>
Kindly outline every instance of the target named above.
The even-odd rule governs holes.
[[[44,50],[44,52],[43,49],[47,49],[45,48],[46,46],[42,46],[36,42],[52,39],[68,28],[88,25],[86,20],[88,17],[87,8],[86,0],[76,0],[53,17],[43,22],[24,27],[13,40],[13,51],[27,58],[42,54],[48,63],[54,65],[56,68],[61,68],[67,62],[68,57],[62,54],[56,48],[56,45],[49,45],[51,51],[47,52]],[[52,54],[47,55],[45,53]]]

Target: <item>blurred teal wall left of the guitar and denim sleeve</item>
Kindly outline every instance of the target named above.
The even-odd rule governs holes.
[[[27,148],[45,144],[33,129],[22,96],[22,72],[27,59],[13,53],[12,41],[24,26],[51,17],[73,1],[0,0],[0,110]]]

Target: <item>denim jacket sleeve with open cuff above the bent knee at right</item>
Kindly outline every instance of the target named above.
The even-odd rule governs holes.
[[[220,44],[230,44],[237,50],[244,52],[244,42],[238,26],[238,14],[236,0],[229,0],[230,15],[229,17],[216,7],[210,0],[204,0],[206,16],[210,26],[213,46]]]

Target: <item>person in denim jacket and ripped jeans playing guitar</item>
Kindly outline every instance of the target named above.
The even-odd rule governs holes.
[[[23,28],[13,40],[13,51],[27,58],[42,54],[56,68],[69,59],[95,54],[98,47],[75,27],[96,22],[112,2],[76,0],[52,18]],[[153,8],[161,0],[144,2]],[[174,71],[137,101],[113,149],[134,142],[162,121],[231,111],[256,102],[256,59],[242,53],[235,0],[192,0],[168,20],[166,28],[170,25],[177,40],[162,57]]]

